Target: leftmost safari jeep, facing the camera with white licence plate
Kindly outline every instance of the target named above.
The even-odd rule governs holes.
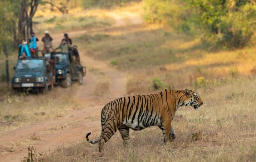
[[[48,87],[53,88],[52,71],[43,57],[18,59],[15,74],[12,78],[14,90],[35,90],[48,92]]]

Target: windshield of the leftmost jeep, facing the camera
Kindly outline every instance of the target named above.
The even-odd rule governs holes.
[[[33,59],[33,60],[18,60],[17,70],[30,70],[30,69],[43,69],[44,63],[41,59]]]

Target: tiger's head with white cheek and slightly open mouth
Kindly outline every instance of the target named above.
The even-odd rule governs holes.
[[[185,89],[185,96],[187,97],[183,102],[185,106],[192,106],[194,109],[198,109],[201,105],[203,105],[203,101],[199,94],[195,93],[194,91]]]

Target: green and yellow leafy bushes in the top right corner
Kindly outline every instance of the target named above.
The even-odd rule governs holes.
[[[255,38],[256,3],[250,0],[144,0],[148,23],[200,34],[224,48],[242,48]]]

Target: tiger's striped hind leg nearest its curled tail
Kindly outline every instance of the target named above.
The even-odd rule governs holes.
[[[117,126],[113,120],[109,120],[105,124],[105,130],[103,135],[99,140],[99,151],[102,152],[104,150],[105,143],[116,133]]]

